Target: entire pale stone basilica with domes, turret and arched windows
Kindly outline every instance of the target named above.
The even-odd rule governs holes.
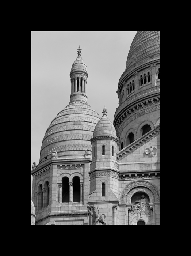
[[[160,31],[135,35],[113,122],[88,104],[77,55],[70,102],[32,165],[31,225],[160,225]]]

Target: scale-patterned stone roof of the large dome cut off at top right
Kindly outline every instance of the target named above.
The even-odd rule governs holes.
[[[126,70],[148,57],[160,54],[160,31],[137,31],[126,61]]]

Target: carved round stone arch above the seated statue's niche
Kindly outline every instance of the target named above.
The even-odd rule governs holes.
[[[135,187],[146,187],[146,188],[150,189],[154,195],[154,202],[160,202],[160,191],[154,184],[152,184],[146,180],[137,180],[137,181],[132,181],[125,186],[125,188],[123,189],[122,193],[120,194],[120,198],[119,198],[119,201],[121,204],[125,204],[125,199],[126,199],[127,194],[129,193],[129,191],[132,188],[135,188]],[[138,191],[136,191],[136,192],[138,192]]]

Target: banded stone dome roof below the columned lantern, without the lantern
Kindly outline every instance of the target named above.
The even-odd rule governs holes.
[[[56,151],[59,157],[84,156],[91,148],[90,139],[100,120],[99,114],[87,103],[72,103],[62,109],[46,130],[40,150],[40,160]]]

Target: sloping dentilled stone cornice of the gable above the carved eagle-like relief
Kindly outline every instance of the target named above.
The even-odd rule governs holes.
[[[160,125],[157,125],[156,128],[152,129],[141,138],[135,140],[133,143],[119,151],[117,154],[117,162],[121,161],[121,159],[127,157],[127,155],[130,155],[135,150],[142,147],[144,144],[155,138],[158,134],[160,134]]]

